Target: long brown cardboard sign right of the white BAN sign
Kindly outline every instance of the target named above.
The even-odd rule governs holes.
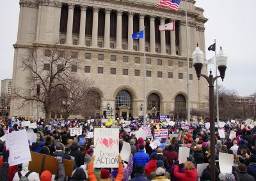
[[[52,175],[56,175],[58,171],[58,162],[56,161],[55,157],[31,152],[31,158],[32,160],[29,161],[28,170],[35,171],[37,173],[41,173],[44,170],[49,170]],[[75,161],[62,159],[62,163],[65,164],[66,176],[71,177]]]

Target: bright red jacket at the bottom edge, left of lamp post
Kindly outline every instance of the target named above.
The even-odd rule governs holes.
[[[179,166],[175,166],[174,168],[174,176],[178,178],[180,181],[196,181],[197,180],[197,171],[194,166],[193,170],[185,170],[185,173],[179,173]]]

